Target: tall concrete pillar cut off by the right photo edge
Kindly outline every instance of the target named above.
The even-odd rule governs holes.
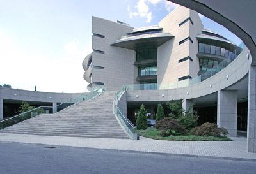
[[[247,149],[256,153],[256,66],[251,66],[248,76]]]

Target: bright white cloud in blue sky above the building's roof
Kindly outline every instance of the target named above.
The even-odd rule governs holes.
[[[148,5],[146,4],[147,0],[139,0],[135,8],[137,11],[131,11],[130,6],[127,6],[127,11],[129,12],[129,17],[140,16],[143,18],[147,18],[146,22],[151,22],[152,20],[152,12],[149,10]]]

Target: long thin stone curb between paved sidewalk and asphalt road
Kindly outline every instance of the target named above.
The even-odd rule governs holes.
[[[136,151],[136,150],[120,150],[120,149],[102,149],[97,147],[76,147],[70,145],[49,145],[43,143],[21,143],[21,142],[13,142],[13,141],[0,141],[0,143],[19,143],[23,145],[38,145],[45,147],[73,147],[80,149],[92,149],[92,150],[101,150],[101,151],[110,151],[110,152],[122,152],[122,153],[133,153],[133,154],[148,154],[148,155],[159,155],[159,156],[173,156],[173,157],[195,157],[201,159],[221,159],[221,160],[231,160],[231,161],[249,161],[256,162],[256,159],[251,158],[237,158],[237,157],[220,157],[220,156],[200,156],[200,155],[191,155],[191,154],[172,154],[172,153],[162,153],[162,152],[145,152],[145,151]]]

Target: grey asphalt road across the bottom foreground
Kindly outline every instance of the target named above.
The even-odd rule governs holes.
[[[120,150],[0,143],[0,173],[250,173],[256,163]]]

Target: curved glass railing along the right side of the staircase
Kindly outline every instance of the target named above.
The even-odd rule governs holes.
[[[115,114],[116,118],[119,120],[123,129],[129,134],[129,136],[133,140],[138,140],[138,135],[136,133],[136,127],[132,124],[132,122],[127,119],[125,114],[118,108],[118,101],[124,94],[124,90],[118,91],[115,94],[115,99],[113,101],[113,113]]]

